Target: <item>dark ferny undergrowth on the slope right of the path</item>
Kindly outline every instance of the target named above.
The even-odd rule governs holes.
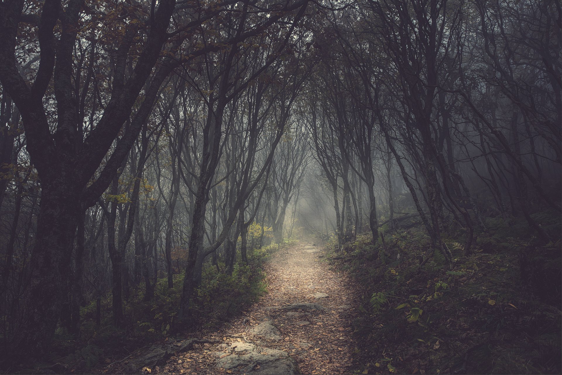
[[[534,219],[552,242],[539,246],[526,222],[487,219],[470,256],[462,231],[443,237],[451,264],[436,251],[420,267],[420,226],[383,228],[386,247],[363,235],[336,254],[330,242],[328,259],[365,286],[360,372],[560,374],[560,217]]]

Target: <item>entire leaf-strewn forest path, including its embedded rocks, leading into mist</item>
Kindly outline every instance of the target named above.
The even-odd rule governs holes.
[[[353,373],[360,288],[321,254],[306,241],[275,252],[264,266],[268,291],[260,301],[210,333],[210,343],[176,353],[152,373],[294,373],[295,361],[303,374]]]

